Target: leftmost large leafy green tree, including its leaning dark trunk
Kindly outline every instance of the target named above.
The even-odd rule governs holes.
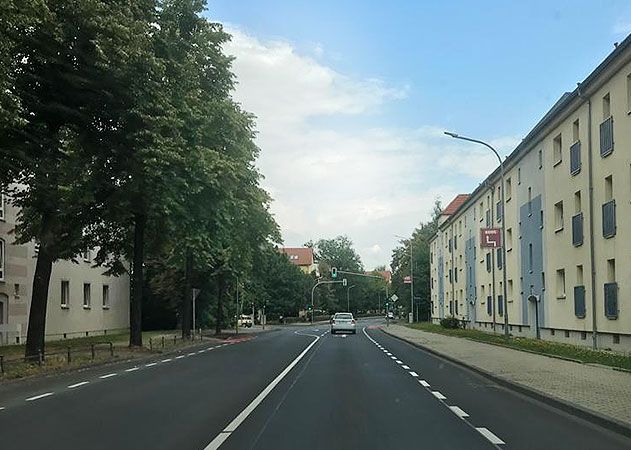
[[[16,242],[34,240],[39,248],[26,343],[26,356],[32,357],[44,349],[52,264],[84,249],[86,230],[101,219],[95,155],[107,130],[117,126],[107,114],[119,101],[111,81],[129,59],[143,55],[153,2],[26,5],[10,5],[2,16],[11,23],[12,41],[2,49],[8,63],[2,79],[11,87],[1,101],[0,165],[10,170],[0,184],[11,184],[11,201],[21,208]],[[7,104],[17,114],[13,120],[6,120]]]

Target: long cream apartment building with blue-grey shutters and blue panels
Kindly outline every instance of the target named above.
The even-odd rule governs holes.
[[[513,335],[631,350],[631,36],[504,166],[504,186],[498,168],[443,211],[430,246],[433,320],[501,333],[508,312]],[[506,261],[480,245],[481,229],[502,220]]]

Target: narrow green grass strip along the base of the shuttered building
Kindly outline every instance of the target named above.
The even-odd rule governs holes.
[[[503,334],[492,334],[479,330],[452,330],[430,323],[406,324],[406,326],[417,330],[428,331],[430,333],[444,334],[447,336],[467,338],[487,344],[501,345],[515,350],[524,350],[541,355],[572,359],[583,363],[602,364],[604,366],[631,370],[631,355],[621,353],[604,350],[592,350],[578,345],[562,344],[558,342],[544,341],[541,339],[529,339],[522,337],[506,338]]]

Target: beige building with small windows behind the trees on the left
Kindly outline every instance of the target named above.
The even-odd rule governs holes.
[[[18,210],[0,197],[0,345],[24,342],[30,290],[37,260],[33,243],[15,245],[11,230]],[[46,338],[105,334],[129,327],[129,277],[103,275],[91,252],[78,264],[53,265],[48,292]]]

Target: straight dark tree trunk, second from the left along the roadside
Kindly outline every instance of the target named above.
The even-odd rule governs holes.
[[[134,260],[131,295],[129,299],[129,346],[142,347],[142,296],[144,290],[144,243],[145,225],[144,215],[134,216]]]

